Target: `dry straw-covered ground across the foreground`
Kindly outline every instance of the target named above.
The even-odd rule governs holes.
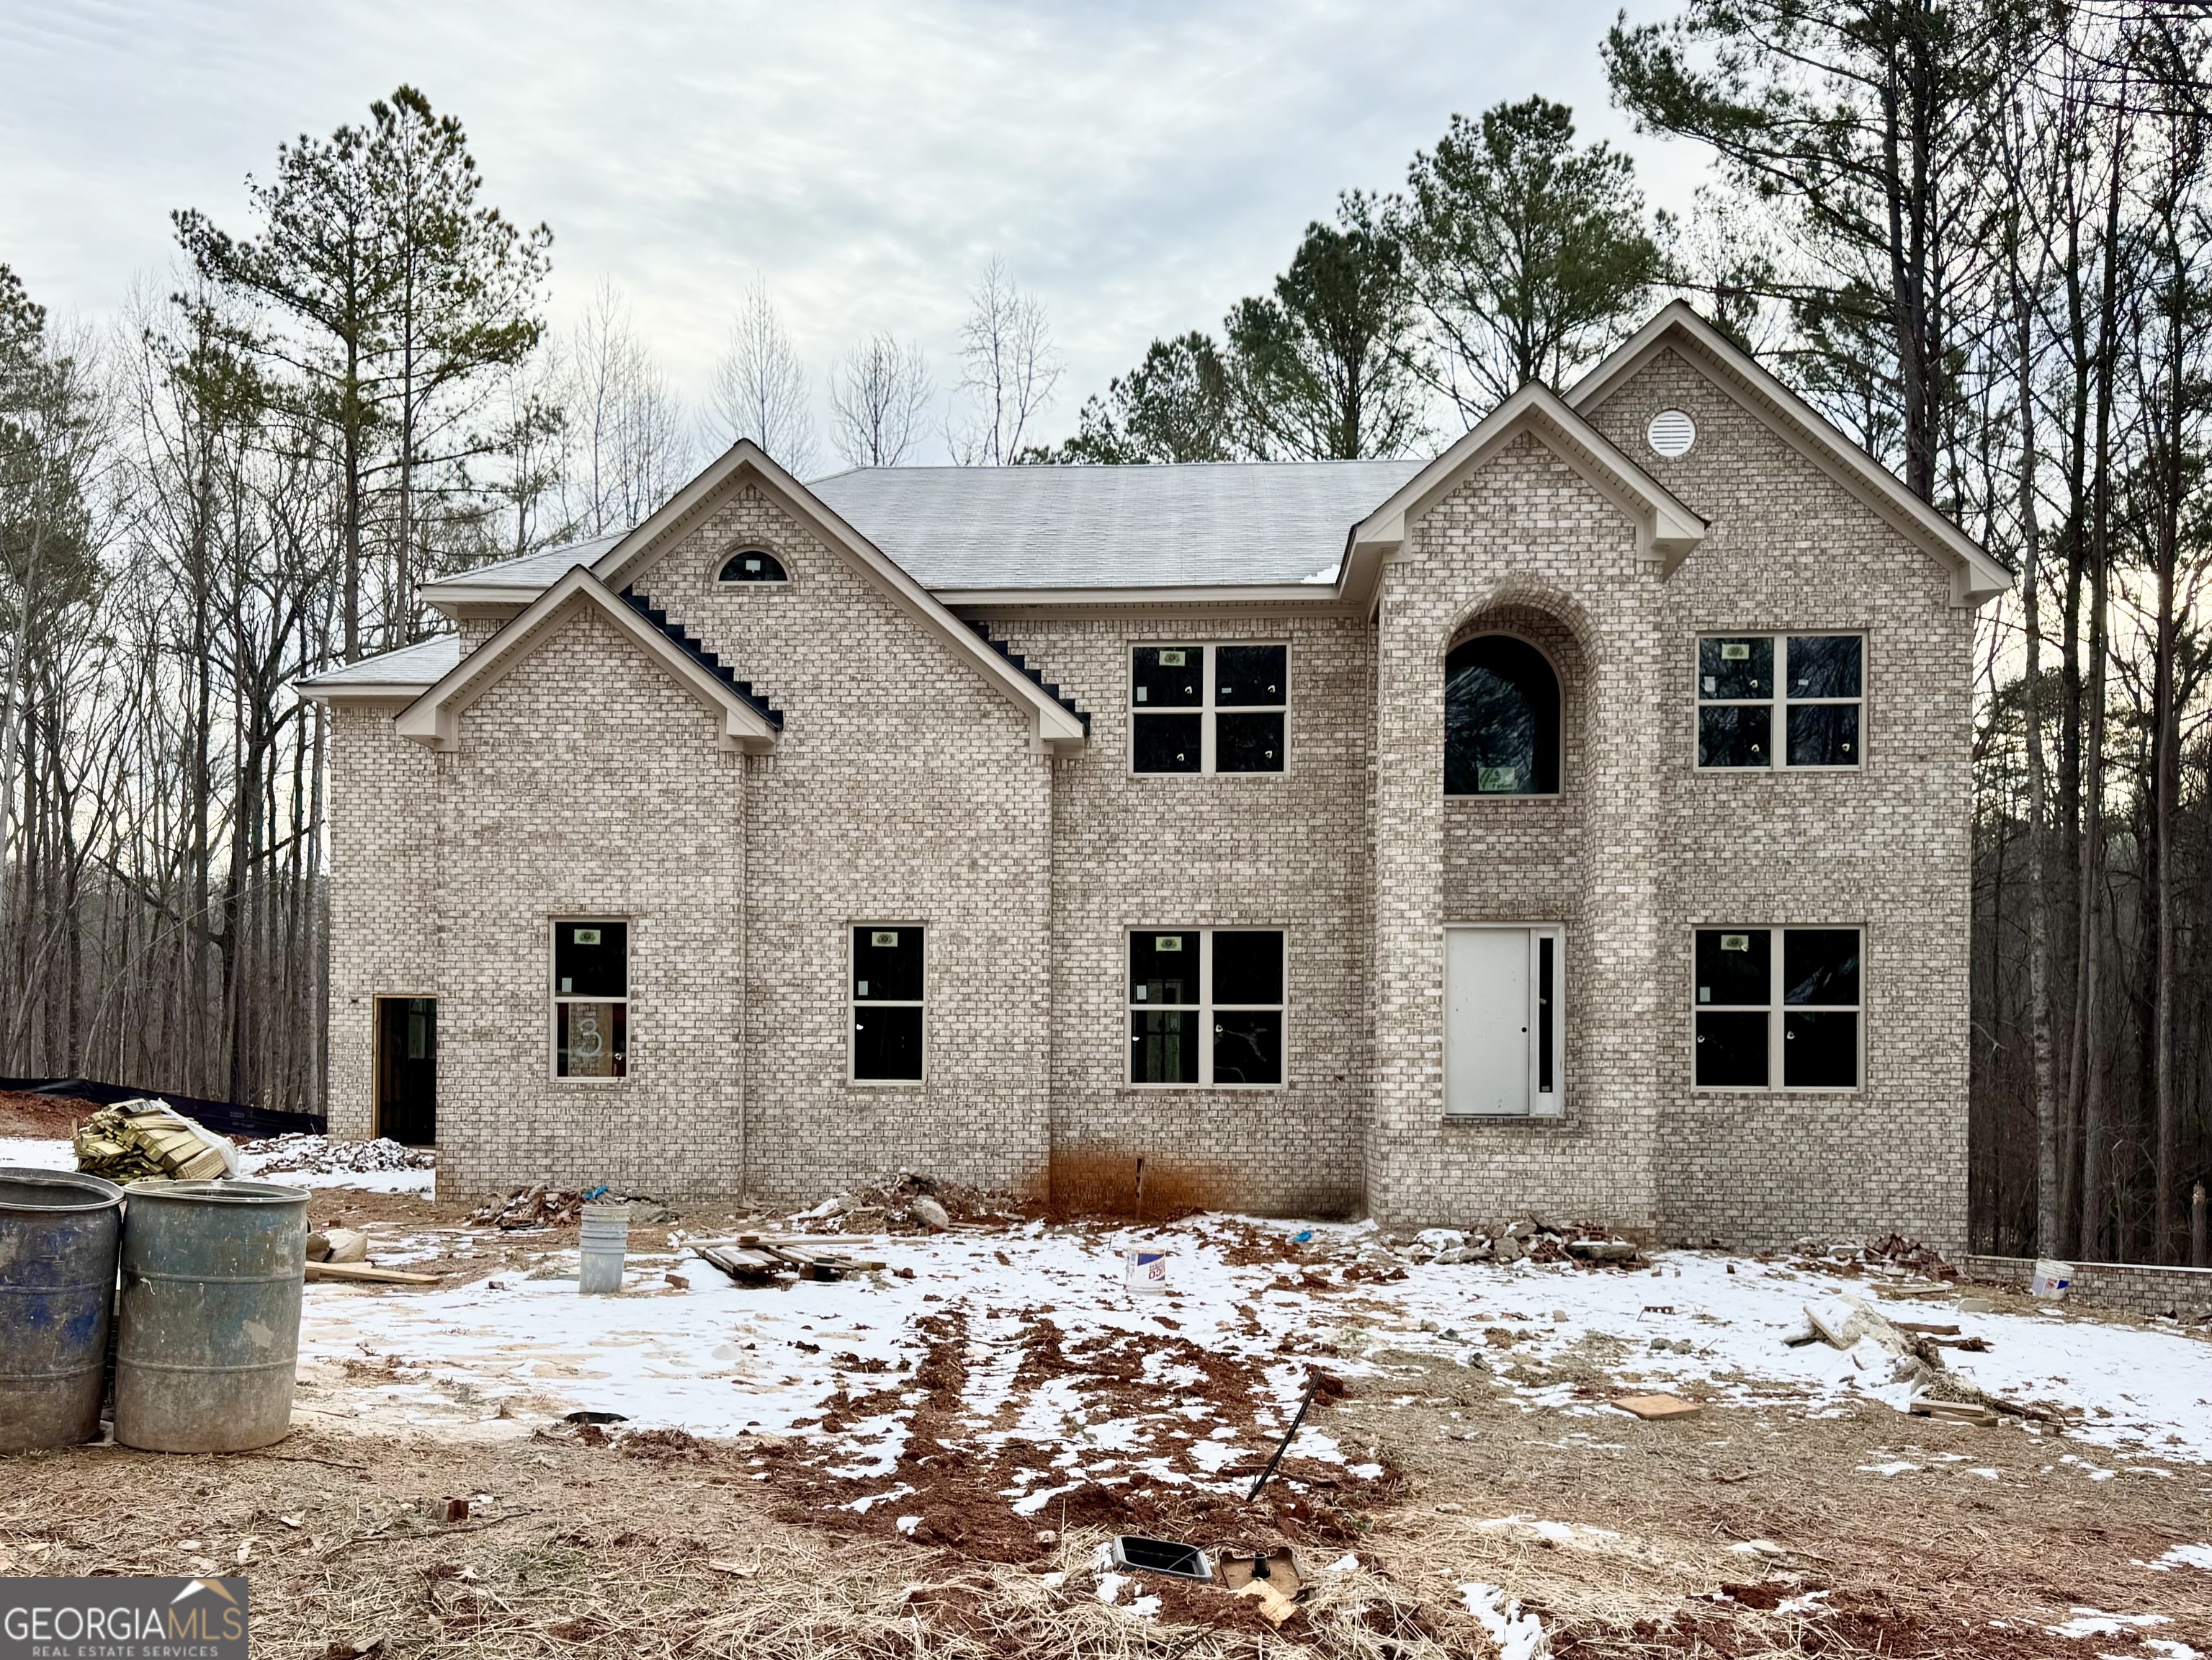
[[[1356,1571],[1318,1571],[1340,1547],[1301,1552],[1314,1589],[1283,1631],[1172,1583],[1135,1587],[1164,1596],[1157,1622],[1128,1614],[1133,1591],[1102,1605],[1097,1532],[1004,1565],[779,1521],[790,1494],[772,1459],[681,1436],[624,1450],[299,1430],[219,1459],[27,1454],[0,1461],[0,1574],[246,1571],[257,1653],[305,1660],[1482,1658],[1491,1645],[1458,1589],[1469,1580],[1542,1609],[1562,1660],[2150,1660],[2132,1638],[2048,1636],[2075,1605],[2159,1611],[2172,1625],[2141,1636],[2212,1647],[2212,1576],[2137,1565],[2208,1538],[2203,1467],[2093,1483],[2059,1463],[2073,1443],[1880,1408],[1803,1419],[1776,1403],[1674,1423],[1526,1412],[1486,1372],[1380,1359],[1385,1377],[1329,1428],[1402,1467],[1409,1496],[1369,1514]],[[1920,1470],[1858,1470],[1891,1459]],[[489,1498],[445,1525],[420,1501],[449,1494]],[[1526,1521],[1482,1525],[1504,1516]],[[1752,1538],[1778,1552],[1730,1549]],[[1730,1600],[1714,1600],[1723,1587]],[[1814,1591],[1798,1614],[1776,1607]]]

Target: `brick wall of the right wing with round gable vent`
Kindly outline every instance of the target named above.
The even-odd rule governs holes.
[[[1690,454],[1652,454],[1666,407]],[[1674,352],[1595,425],[1712,520],[1661,591],[1659,1211],[1670,1237],[1772,1244],[1900,1228],[1966,1244],[1973,613],[1951,571]],[[1697,772],[1694,637],[1867,633],[1865,766]],[[1865,930],[1851,1093],[1694,1093],[1694,923]]]

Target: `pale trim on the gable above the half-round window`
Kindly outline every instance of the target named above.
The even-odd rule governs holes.
[[[730,445],[706,471],[668,498],[653,518],[633,529],[593,562],[608,589],[624,589],[657,558],[668,553],[714,502],[743,485],[761,485],[794,518],[812,527],[830,547],[872,575],[925,633],[936,635],[956,657],[971,664],[1006,702],[1029,715],[1031,746],[1055,755],[1073,755],[1084,746],[1084,724],[1055,699],[1046,697],[1029,675],[984,644],[973,629],[945,609],[936,595],[907,575],[860,531],[830,511],[827,505],[750,438]]]

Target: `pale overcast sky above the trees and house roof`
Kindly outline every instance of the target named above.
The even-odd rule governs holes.
[[[759,272],[816,392],[874,330],[940,385],[991,255],[1068,372],[1051,436],[1144,345],[1265,290],[1338,190],[1453,111],[1544,93],[1683,206],[1597,42],[1617,0],[0,0],[0,261],[58,314],[166,281],[168,210],[250,230],[276,144],[400,82],[458,113],[509,217],[553,226],[555,321],[608,279],[697,396]],[[1663,13],[1637,0],[1630,15]]]

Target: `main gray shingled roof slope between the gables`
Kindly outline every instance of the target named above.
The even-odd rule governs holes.
[[[863,467],[807,485],[925,589],[1305,582],[1418,460]]]

